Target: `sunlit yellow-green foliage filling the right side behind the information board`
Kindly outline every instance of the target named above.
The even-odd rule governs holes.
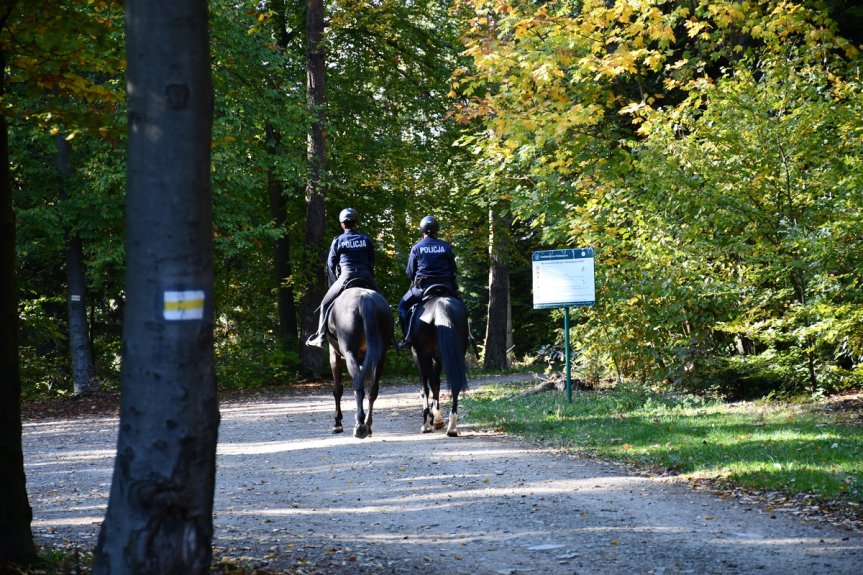
[[[860,55],[827,13],[458,7],[477,188],[546,246],[596,250],[582,354],[639,381],[726,365],[771,389],[860,384]]]

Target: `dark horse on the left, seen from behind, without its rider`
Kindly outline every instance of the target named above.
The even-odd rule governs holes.
[[[393,341],[393,313],[384,297],[366,288],[348,288],[333,301],[327,318],[330,342],[330,368],[333,371],[333,397],[336,422],[333,433],[342,427],[342,366],[347,364],[357,400],[354,437],[372,434],[372,408],[378,396],[387,346]],[[365,382],[371,379],[369,412],[363,410]]]

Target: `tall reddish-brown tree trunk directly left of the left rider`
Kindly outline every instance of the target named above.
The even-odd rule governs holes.
[[[302,300],[303,333],[318,329],[316,312],[324,297],[326,276],[324,273],[323,244],[326,215],[324,213],[324,177],[327,167],[327,146],[324,138],[324,74],[323,48],[324,3],[323,0],[308,0],[306,12],[306,102],[312,115],[312,129],[308,138],[309,180],[306,186],[306,269],[312,276]],[[303,366],[319,373],[324,355],[320,349],[302,346]]]

